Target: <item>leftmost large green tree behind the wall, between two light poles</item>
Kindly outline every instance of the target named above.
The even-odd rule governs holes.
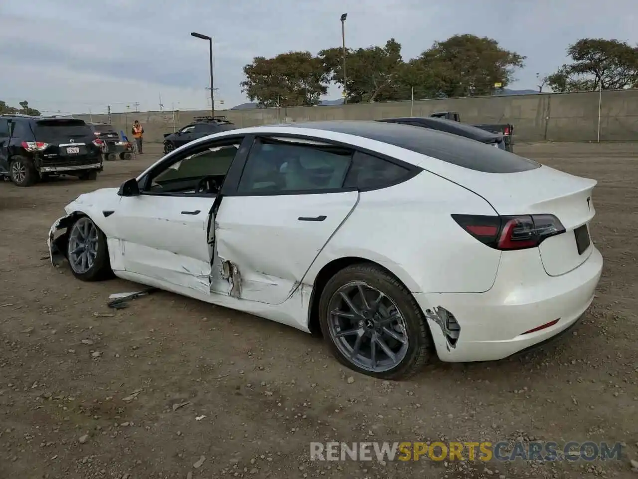
[[[255,57],[244,66],[242,92],[263,107],[318,105],[328,91],[328,75],[320,59],[310,52]]]

